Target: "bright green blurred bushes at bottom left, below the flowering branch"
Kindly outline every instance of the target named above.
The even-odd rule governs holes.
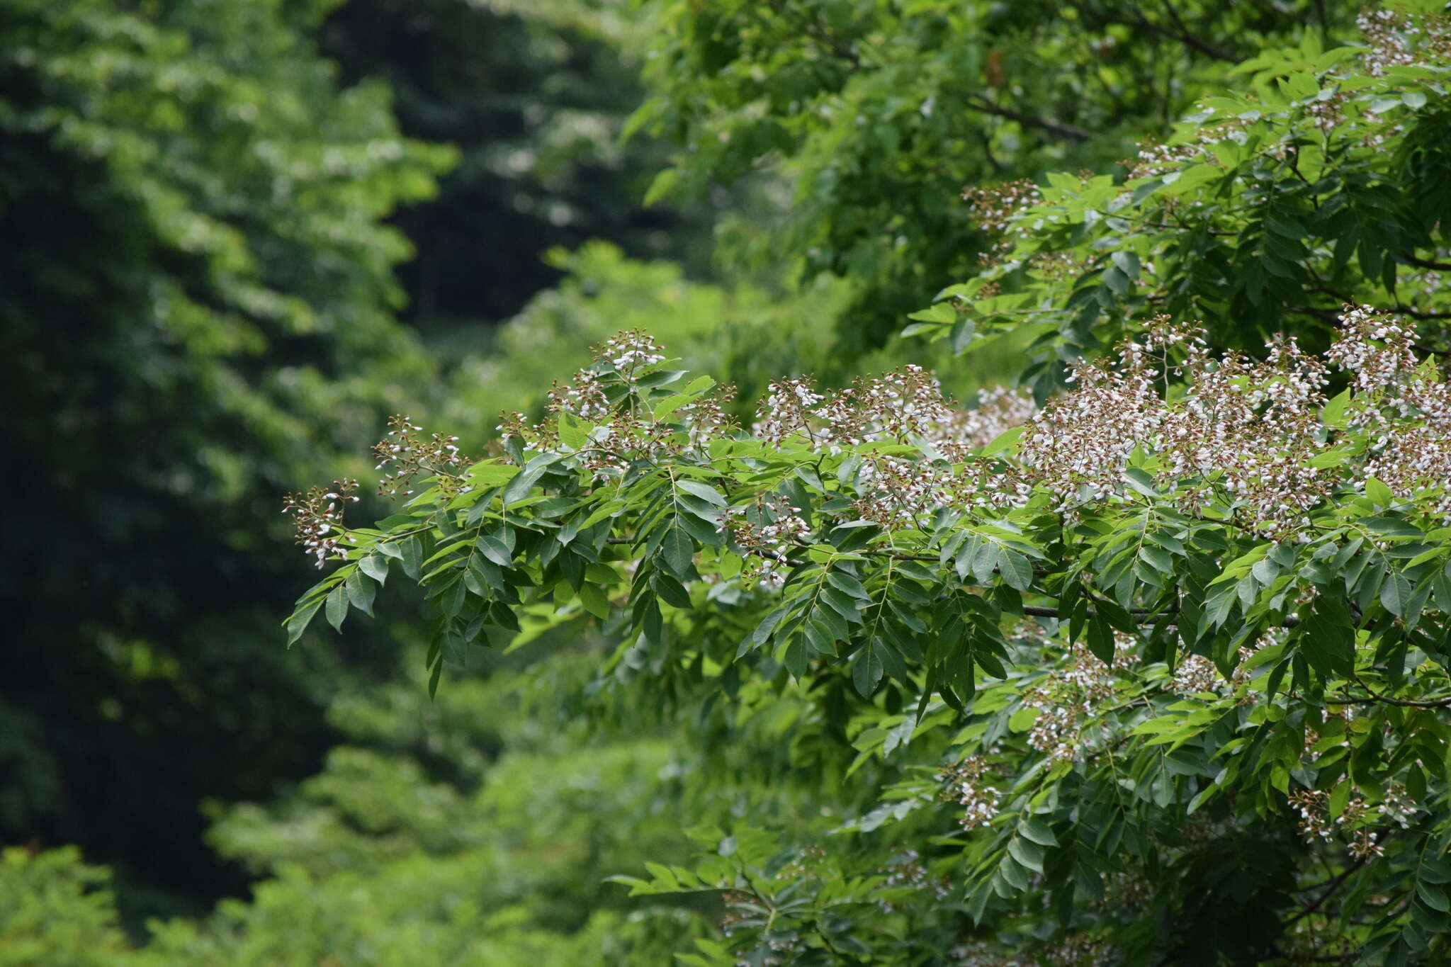
[[[569,668],[567,655],[554,663]],[[527,678],[421,681],[332,710],[348,744],[271,808],[232,806],[226,855],[266,873],[251,902],[200,922],[152,921],[132,948],[104,871],[74,851],[0,866],[6,964],[660,964],[705,924],[673,900],[628,900],[605,877],[679,857],[665,736],[592,741],[519,707]],[[9,957],[9,960],[4,960]]]

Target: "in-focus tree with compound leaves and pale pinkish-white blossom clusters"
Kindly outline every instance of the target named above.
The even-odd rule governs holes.
[[[434,686],[599,622],[601,692],[789,745],[814,819],[747,809],[622,877],[724,897],[686,964],[1444,957],[1451,384],[1418,322],[1447,315],[1448,33],[1365,28],[1251,65],[1127,180],[978,197],[1001,257],[916,329],[1040,326],[1037,403],[907,367],[778,381],[740,426],[621,333],[483,460],[398,418],[376,528],[355,481],[290,499],[341,561],[292,639],[396,567]]]

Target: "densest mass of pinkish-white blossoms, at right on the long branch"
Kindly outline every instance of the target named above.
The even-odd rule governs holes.
[[[1380,394],[1357,413],[1380,413],[1384,404],[1390,418],[1421,420],[1387,432],[1368,468],[1403,496],[1445,480],[1451,391],[1432,368],[1418,365],[1412,329],[1367,307],[1347,310],[1344,323],[1326,360],[1354,373],[1362,391]],[[1187,510],[1223,500],[1244,507],[1270,535],[1302,523],[1358,468],[1335,473],[1313,464],[1329,447],[1320,420],[1326,362],[1293,339],[1271,341],[1267,349],[1262,361],[1239,354],[1214,360],[1197,332],[1158,319],[1140,341],[1120,346],[1116,361],[1077,364],[1075,390],[1029,425],[1023,474],[984,486],[995,487],[1004,503],[1023,493],[1024,483],[1045,487],[1071,512],[1081,502],[1126,493],[1125,470],[1143,452],[1158,458],[1158,481],[1180,487]],[[1174,402],[1158,390],[1170,375],[1185,380]]]

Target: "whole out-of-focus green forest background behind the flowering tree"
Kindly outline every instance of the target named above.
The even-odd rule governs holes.
[[[969,394],[1011,341],[888,338],[977,265],[961,191],[1116,171],[1347,14],[9,0],[0,964],[659,964],[715,929],[605,877],[850,805],[840,723],[638,709],[564,634],[429,702],[402,600],[287,651],[280,494],[366,474],[390,412],[477,451],[627,328],[747,419],[789,373]]]

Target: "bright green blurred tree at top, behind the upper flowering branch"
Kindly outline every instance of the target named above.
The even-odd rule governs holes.
[[[631,123],[681,145],[651,196],[762,167],[789,178],[791,215],[757,254],[853,281],[850,355],[975,267],[963,187],[1106,171],[1229,65],[1325,30],[1332,9],[1344,17],[1315,3],[667,0],[653,97]],[[727,238],[760,249],[755,225]]]

